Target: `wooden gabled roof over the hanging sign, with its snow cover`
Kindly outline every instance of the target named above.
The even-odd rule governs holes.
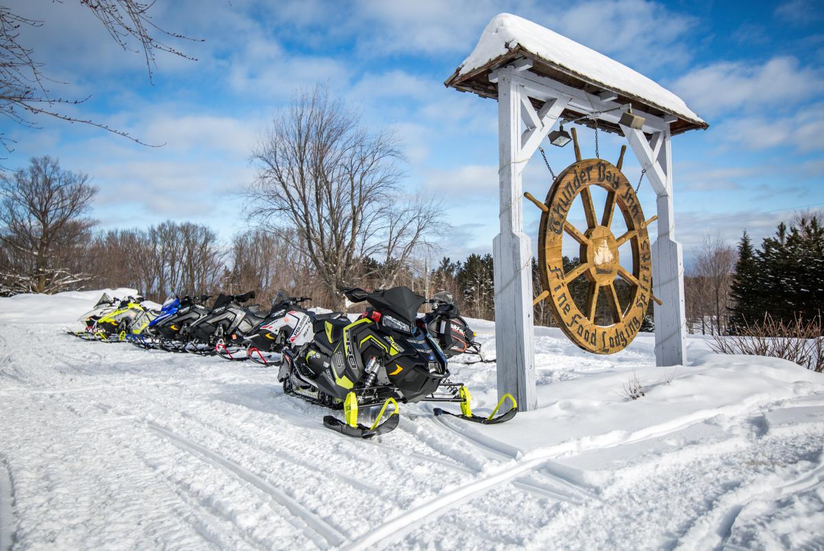
[[[709,126],[684,100],[657,82],[553,30],[509,13],[489,21],[478,45],[445,84],[496,97],[497,89],[488,82],[488,73],[519,57],[533,59],[533,71],[565,84],[612,91],[619,100],[632,100],[675,115],[680,120],[674,124],[673,133]]]

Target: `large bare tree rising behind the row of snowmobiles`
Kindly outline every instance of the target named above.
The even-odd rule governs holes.
[[[401,189],[400,160],[390,134],[368,133],[316,87],[275,117],[255,147],[250,216],[288,231],[290,245],[343,307],[337,289],[365,275],[365,259],[391,260],[380,263],[391,264],[381,278],[391,283],[437,230],[437,206]]]

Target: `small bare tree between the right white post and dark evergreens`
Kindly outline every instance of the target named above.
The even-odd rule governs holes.
[[[711,292],[715,329],[723,334],[726,329],[729,306],[729,290],[733,283],[736,251],[721,236],[705,236],[704,244],[695,259],[695,272],[705,278]]]

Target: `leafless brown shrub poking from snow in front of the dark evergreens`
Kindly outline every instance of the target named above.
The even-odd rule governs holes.
[[[782,357],[817,373],[824,371],[824,330],[821,315],[812,320],[784,322],[765,314],[760,324],[741,329],[734,337],[714,334],[710,347],[717,353]]]

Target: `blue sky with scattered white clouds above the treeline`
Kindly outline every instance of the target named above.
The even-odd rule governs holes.
[[[300,86],[324,82],[372,128],[404,144],[407,186],[436,194],[452,231],[442,254],[491,252],[498,231],[497,107],[442,82],[475,47],[489,20],[510,12],[643,72],[710,124],[673,138],[676,234],[687,260],[708,233],[731,243],[745,228],[760,241],[790,208],[824,208],[824,4],[789,2],[250,2],[157,0],[154,21],[204,39],[170,40],[197,58],[159,54],[153,82],[143,58],[118,49],[75,0],[3,2],[44,20],[21,40],[65,84],[53,96],[91,99],[67,109],[129,131],[143,147],[100,129],[35,119],[7,121],[16,140],[4,166],[59,157],[101,188],[103,227],[167,218],[203,222],[228,240],[247,226],[241,191],[254,176],[251,147]],[[592,132],[581,131],[585,156]],[[602,138],[617,156],[622,138]],[[570,147],[549,147],[558,172]],[[630,180],[639,175],[631,155]],[[539,156],[524,189],[550,185]],[[648,184],[640,198],[655,211]],[[536,209],[525,208],[536,241]]]

